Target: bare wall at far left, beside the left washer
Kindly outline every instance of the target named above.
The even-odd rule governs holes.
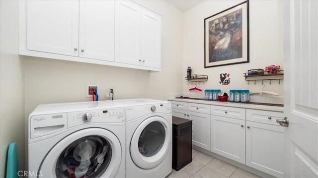
[[[24,60],[19,45],[18,1],[0,0],[0,177],[5,177],[8,145],[16,142],[24,169]]]

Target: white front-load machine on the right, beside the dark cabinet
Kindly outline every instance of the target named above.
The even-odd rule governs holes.
[[[150,99],[113,102],[126,107],[126,177],[169,175],[172,165],[170,102]]]

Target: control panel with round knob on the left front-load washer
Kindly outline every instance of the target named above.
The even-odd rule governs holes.
[[[109,108],[67,113],[68,128],[85,123],[125,122],[124,108]]]

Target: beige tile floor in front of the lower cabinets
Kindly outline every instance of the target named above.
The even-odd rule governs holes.
[[[210,155],[192,149],[192,162],[166,178],[260,178]]]

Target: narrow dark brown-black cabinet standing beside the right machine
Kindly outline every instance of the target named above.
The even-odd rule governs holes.
[[[192,161],[192,120],[172,117],[172,168],[179,171]]]

